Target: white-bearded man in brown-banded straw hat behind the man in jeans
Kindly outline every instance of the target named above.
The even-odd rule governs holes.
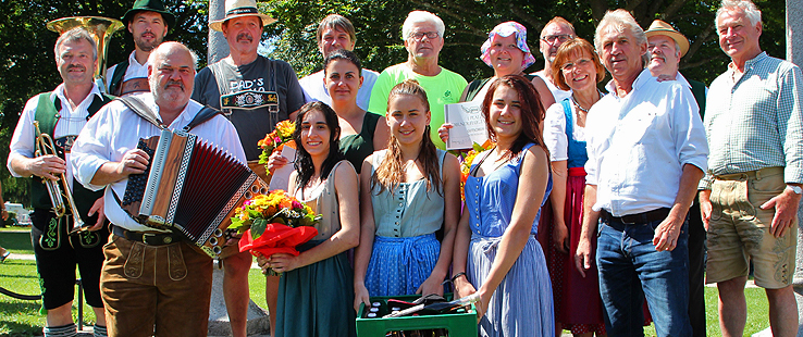
[[[656,20],[644,32],[650,52],[650,74],[658,80],[677,80],[691,89],[700,107],[701,118],[705,111],[705,84],[687,79],[680,74],[680,58],[689,51],[689,40],[669,24]],[[694,337],[705,337],[705,228],[700,214],[700,200],[695,197],[689,209],[689,320]]]

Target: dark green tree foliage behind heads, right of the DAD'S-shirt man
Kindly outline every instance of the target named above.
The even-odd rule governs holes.
[[[769,54],[783,58],[783,1],[758,0],[756,4],[764,12],[762,47]],[[381,71],[407,59],[400,39],[407,13],[412,10],[433,12],[446,24],[441,64],[470,80],[492,75],[493,71],[479,60],[480,46],[487,38],[487,32],[501,22],[517,21],[528,28],[528,45],[540,60],[528,70],[533,72],[543,67],[543,58],[538,51],[539,36],[553,16],[572,22],[578,36],[593,43],[594,28],[605,11],[623,8],[633,13],[642,27],[660,18],[683,33],[691,49],[681,60],[681,72],[708,84],[729,62],[719,49],[714,26],[718,7],[719,0],[280,0],[264,4],[277,18],[267,29],[267,35],[275,39],[270,57],[289,62],[299,77],[322,67],[316,29],[318,22],[330,13],[344,15],[354,23],[357,29],[355,51],[366,67]]]

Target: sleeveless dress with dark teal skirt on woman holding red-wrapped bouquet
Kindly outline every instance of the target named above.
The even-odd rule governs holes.
[[[299,251],[320,245],[341,229],[333,178],[341,164],[350,165],[348,161],[335,164],[320,195],[301,200],[323,219],[316,225],[318,236],[297,247]],[[346,252],[283,273],[279,280],[274,336],[357,336],[353,303],[354,278]]]

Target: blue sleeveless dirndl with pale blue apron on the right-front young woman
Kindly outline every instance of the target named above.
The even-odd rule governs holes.
[[[474,288],[487,278],[502,235],[510,224],[521,159],[532,146],[527,145],[519,158],[494,172],[483,177],[469,175],[466,180],[466,204],[471,227],[466,274]],[[475,166],[472,165],[471,170]],[[543,200],[547,199],[551,190],[552,177]],[[543,200],[532,207],[542,207]],[[535,239],[538,225],[539,216],[535,216],[524,249],[494,291],[487,311],[480,320],[480,336],[554,336],[552,286],[544,252]]]

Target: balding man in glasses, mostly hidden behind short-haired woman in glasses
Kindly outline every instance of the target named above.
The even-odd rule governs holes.
[[[546,83],[546,87],[549,88],[556,102],[560,102],[565,98],[571,96],[571,91],[560,90],[560,88],[555,85],[555,76],[552,73],[552,62],[555,61],[555,55],[557,55],[557,49],[560,48],[560,45],[576,37],[575,26],[560,16],[553,17],[546,23],[546,25],[544,25],[544,29],[541,29],[539,49],[541,49],[541,54],[544,55],[544,68],[532,74],[541,77],[541,79]],[[544,107],[544,109],[547,108],[549,107]]]

